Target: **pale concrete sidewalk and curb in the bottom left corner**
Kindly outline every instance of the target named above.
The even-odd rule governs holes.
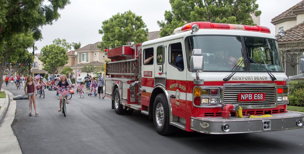
[[[14,95],[5,91],[6,98],[0,98],[0,149],[1,154],[22,154],[18,140],[11,127],[16,113],[16,100],[12,100]],[[6,113],[6,114],[5,114]]]

